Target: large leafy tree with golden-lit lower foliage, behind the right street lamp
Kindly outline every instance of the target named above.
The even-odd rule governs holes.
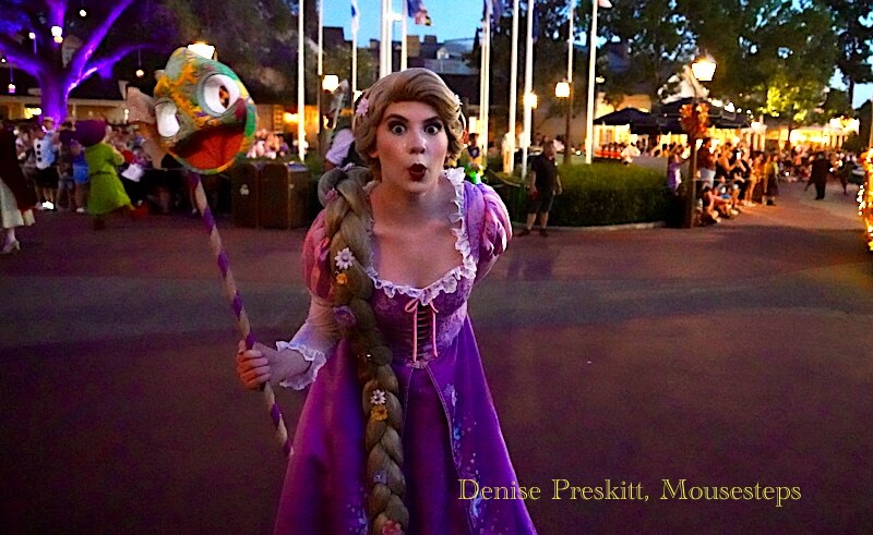
[[[741,108],[806,122],[821,107],[837,47],[829,12],[812,1],[678,0],[698,49],[718,70],[714,95]]]

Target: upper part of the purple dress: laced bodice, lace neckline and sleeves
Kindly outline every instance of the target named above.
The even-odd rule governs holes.
[[[461,264],[426,288],[382,279],[373,257],[362,266],[373,281],[370,304],[376,326],[394,354],[395,365],[423,367],[451,346],[467,319],[467,299],[474,283],[490,271],[512,236],[506,208],[493,189],[465,181],[463,169],[449,169],[443,178],[455,191],[450,220]],[[371,187],[366,190],[368,195]],[[334,269],[324,217],[322,211],[307,233],[302,267],[303,281],[313,300],[328,307],[333,302]],[[368,219],[364,226],[372,239],[372,210]],[[373,248],[371,254],[374,254]],[[315,379],[335,348],[337,340],[327,332],[332,330],[310,316],[290,343],[277,343],[279,349],[297,350],[313,362],[306,374],[284,381],[284,386],[300,389]]]

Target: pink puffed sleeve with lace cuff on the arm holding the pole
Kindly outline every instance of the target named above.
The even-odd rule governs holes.
[[[312,384],[339,341],[339,328],[334,319],[331,300],[328,252],[322,211],[303,241],[303,281],[311,294],[309,316],[290,342],[276,342],[279,353],[298,352],[311,364],[306,372],[283,378],[279,381],[283,387],[301,390]]]

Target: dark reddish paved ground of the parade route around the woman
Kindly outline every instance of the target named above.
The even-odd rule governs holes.
[[[869,530],[873,255],[852,194],[802,190],[513,241],[470,315],[540,533]],[[284,460],[199,221],[37,216],[0,259],[0,531],[267,533]],[[219,229],[255,336],[290,338],[303,230]]]

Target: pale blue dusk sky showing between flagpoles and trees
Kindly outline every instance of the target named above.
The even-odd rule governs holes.
[[[509,4],[511,0],[506,0]],[[619,0],[621,1],[621,0]],[[432,26],[417,26],[410,19],[407,24],[409,35],[435,35],[439,40],[473,38],[476,28],[482,17],[482,2],[478,0],[423,0],[424,7],[430,13]],[[563,2],[561,2],[563,4]],[[400,0],[392,0],[394,10],[399,12],[403,3]],[[379,19],[381,16],[381,0],[358,0],[360,11],[360,31],[358,32],[358,42],[368,42],[371,38],[379,39]],[[522,13],[524,17],[524,13]],[[524,28],[524,19],[519,22],[519,28]],[[351,1],[350,0],[325,0],[324,2],[324,25],[342,26],[345,28],[347,39],[351,39]],[[394,38],[400,35],[400,24],[394,25]],[[584,32],[581,38],[585,38]],[[842,87],[839,78],[834,77],[832,85]],[[873,97],[873,84],[863,84],[856,87],[853,106],[857,108],[864,101]]]

